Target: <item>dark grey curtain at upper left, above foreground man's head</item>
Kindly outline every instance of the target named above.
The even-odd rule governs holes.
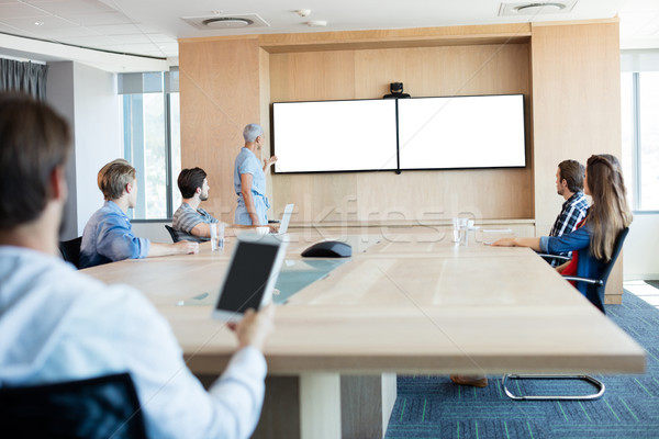
[[[20,91],[46,100],[48,66],[0,58],[0,91]]]

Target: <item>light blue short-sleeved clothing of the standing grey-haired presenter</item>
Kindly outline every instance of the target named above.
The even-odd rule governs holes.
[[[254,225],[247,209],[245,207],[245,200],[242,195],[242,181],[241,176],[243,173],[252,175],[252,195],[254,198],[254,206],[256,209],[256,215],[259,218],[260,225],[268,224],[267,210],[270,207],[268,198],[266,196],[266,175],[261,168],[261,162],[248,148],[241,148],[241,153],[236,157],[234,166],[234,189],[236,195],[238,195],[238,206],[234,216],[236,224]]]

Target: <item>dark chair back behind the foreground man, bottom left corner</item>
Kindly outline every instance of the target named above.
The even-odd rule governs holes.
[[[146,438],[139,401],[129,373],[0,387],[0,426],[8,438]]]

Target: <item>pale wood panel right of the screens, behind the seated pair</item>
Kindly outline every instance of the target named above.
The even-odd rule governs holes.
[[[600,153],[621,157],[619,40],[617,22],[534,25],[532,33],[535,211],[543,235],[563,202],[556,194],[558,164],[585,165]],[[606,294],[619,301],[622,261]]]

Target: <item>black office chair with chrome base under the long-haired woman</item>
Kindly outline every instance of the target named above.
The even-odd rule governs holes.
[[[606,262],[606,264],[604,266],[604,268],[597,279],[581,278],[581,277],[577,277],[577,275],[563,275],[563,279],[566,279],[568,281],[587,283],[588,289],[585,291],[585,299],[588,299],[593,305],[595,305],[597,307],[597,309],[600,309],[602,313],[605,313],[605,311],[604,311],[604,291],[606,290],[606,281],[608,280],[608,275],[611,274],[611,271],[613,270],[613,266],[615,264],[615,261],[617,260],[617,257],[619,256],[619,254],[623,249],[623,244],[625,244],[625,238],[627,237],[628,233],[629,233],[629,227],[625,227],[618,233],[618,236],[615,239],[615,245],[613,247],[613,255],[611,256],[611,260],[608,262]],[[515,395],[506,386],[507,380],[530,380],[530,379],[582,380],[582,381],[587,381],[587,382],[593,384],[597,389],[597,392],[593,393],[593,394],[588,394],[588,395]],[[600,380],[596,380],[592,376],[589,376],[589,375],[554,375],[554,374],[518,375],[518,374],[509,373],[509,374],[503,375],[503,378],[501,379],[501,384],[503,386],[505,394],[510,398],[516,399],[516,401],[524,401],[524,399],[534,399],[534,401],[538,401],[538,399],[596,399],[600,396],[602,396],[604,394],[604,391],[606,390],[603,382],[601,382]]]

